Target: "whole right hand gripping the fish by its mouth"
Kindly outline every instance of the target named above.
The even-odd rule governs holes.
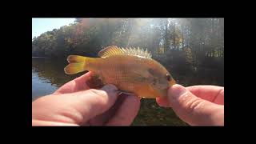
[[[192,126],[224,126],[224,87],[174,85],[168,97],[156,100]]]

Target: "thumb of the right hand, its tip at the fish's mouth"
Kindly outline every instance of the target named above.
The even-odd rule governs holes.
[[[222,125],[224,106],[198,98],[184,86],[174,85],[168,90],[168,100],[175,114],[190,125]]]

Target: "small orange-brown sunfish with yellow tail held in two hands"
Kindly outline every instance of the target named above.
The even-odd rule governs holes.
[[[98,52],[98,57],[69,55],[64,71],[66,74],[92,71],[103,85],[113,84],[118,90],[139,98],[166,97],[169,87],[176,83],[148,50],[106,46]]]

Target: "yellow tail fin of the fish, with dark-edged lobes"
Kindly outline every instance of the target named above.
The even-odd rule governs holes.
[[[64,68],[66,74],[77,74],[82,71],[85,71],[86,57],[78,55],[70,55],[67,58],[67,61],[70,63]]]

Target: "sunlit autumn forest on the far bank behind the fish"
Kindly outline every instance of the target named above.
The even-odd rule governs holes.
[[[75,18],[34,37],[32,56],[97,57],[110,45],[147,49],[174,74],[218,78],[224,86],[224,18]]]

